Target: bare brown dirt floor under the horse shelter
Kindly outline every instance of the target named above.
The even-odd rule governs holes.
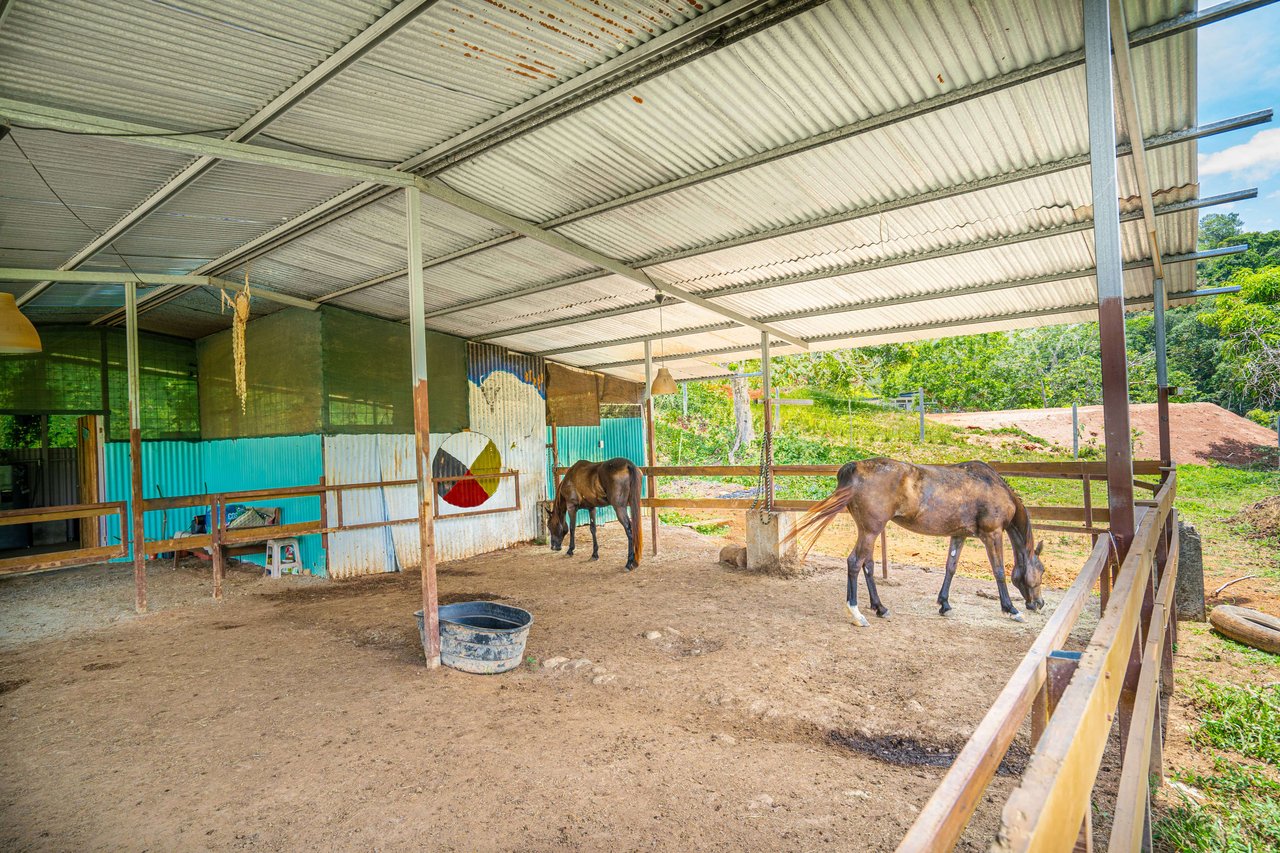
[[[215,605],[207,569],[157,567],[145,617],[124,567],[0,583],[0,847],[892,849],[1046,619],[965,578],[941,617],[941,575],[897,567],[892,617],[855,629],[842,560],[756,576],[664,528],[625,574],[602,530],[598,562],[440,567],[442,601],[535,615],[500,676],[425,670],[412,573],[233,571]]]

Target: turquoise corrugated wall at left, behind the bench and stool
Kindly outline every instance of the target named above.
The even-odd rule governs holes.
[[[143,497],[177,497],[209,492],[243,492],[250,489],[283,488],[289,485],[315,485],[324,474],[324,456],[320,435],[273,435],[266,438],[237,438],[207,442],[142,442],[142,494]],[[106,500],[129,500],[129,446],[125,442],[106,444]],[[320,500],[274,498],[266,501],[241,501],[251,506],[278,506],[283,524],[316,521],[320,519]],[[207,507],[206,507],[207,508]],[[201,508],[147,512],[142,529],[148,539],[159,539],[168,532],[173,535],[191,525],[191,517]],[[111,521],[109,542],[118,542],[119,525]],[[302,564],[312,573],[324,574],[325,555],[319,535],[301,537]],[[261,565],[261,555],[241,557]]]

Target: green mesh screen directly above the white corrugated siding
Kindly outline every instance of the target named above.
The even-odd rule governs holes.
[[[408,345],[408,327],[403,323],[324,309],[325,432],[413,430]],[[426,364],[431,432],[466,429],[466,341],[428,332]]]

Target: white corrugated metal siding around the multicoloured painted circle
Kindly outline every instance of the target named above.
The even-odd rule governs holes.
[[[493,439],[506,470],[520,471],[518,511],[440,517],[435,523],[436,560],[460,560],[504,548],[538,535],[538,501],[547,494],[547,415],[541,359],[506,352],[498,347],[468,347],[468,407],[471,430]],[[433,433],[434,459],[448,434]],[[417,476],[412,435],[329,435],[325,439],[325,476],[329,483],[369,483]],[[411,519],[417,487],[348,492],[343,519],[348,524]],[[330,498],[329,519],[337,521],[337,501]],[[412,524],[333,534],[329,573],[348,578],[416,566],[420,558],[417,528]]]

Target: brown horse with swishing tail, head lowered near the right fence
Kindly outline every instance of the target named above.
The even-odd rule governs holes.
[[[867,592],[877,616],[888,616],[876,592],[872,549],[876,538],[890,521],[913,533],[950,537],[947,574],[938,593],[938,612],[951,610],[948,596],[951,578],[960,561],[960,548],[965,537],[977,537],[987,546],[991,571],[1000,588],[1000,608],[1016,621],[1023,615],[1014,607],[1005,587],[1005,544],[1002,533],[1009,534],[1014,547],[1012,580],[1027,602],[1027,610],[1044,607],[1041,597],[1041,579],[1044,566],[1032,538],[1030,516],[1027,507],[1004,478],[986,462],[960,462],[959,465],[911,465],[892,459],[868,459],[849,462],[840,469],[836,491],[809,510],[800,519],[792,538],[800,538],[808,553],[823,529],[844,510],[854,516],[858,542],[849,555],[849,585],[846,607],[854,621],[867,628],[867,617],[858,610],[858,569],[867,578]]]

